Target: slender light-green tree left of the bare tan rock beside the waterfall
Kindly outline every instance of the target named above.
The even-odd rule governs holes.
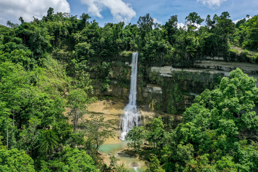
[[[87,103],[89,100],[87,94],[82,89],[72,90],[67,97],[68,107],[71,108],[70,116],[73,118],[73,131],[76,132],[77,124],[83,114],[86,112]]]

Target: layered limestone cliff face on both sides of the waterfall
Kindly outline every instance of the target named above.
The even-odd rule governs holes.
[[[138,68],[139,68],[138,64]],[[218,77],[229,76],[230,71],[239,67],[249,77],[258,79],[258,65],[244,62],[229,62],[221,59],[198,60],[193,64],[192,68],[174,68],[172,66],[151,67],[151,71],[158,71],[164,79],[164,85],[146,83],[142,87],[140,72],[137,74],[138,92],[137,104],[142,114],[144,122],[152,120],[154,117],[161,116],[164,122],[168,121],[169,116],[173,116],[175,121],[173,124],[179,124],[182,118],[182,113],[187,107],[193,103],[193,99],[202,93],[205,89],[213,89],[216,85]],[[107,109],[102,112],[111,120],[115,128],[118,130],[120,124],[120,115],[126,105],[130,94],[130,63],[125,65],[113,65],[113,77],[110,81],[108,91],[101,90],[103,82],[99,81],[93,85],[93,95],[101,97],[104,101],[98,101],[92,104],[92,109],[89,111],[98,112],[98,109]],[[219,75],[217,75],[219,74]],[[218,77],[217,77],[218,76]],[[257,81],[258,87],[258,81]],[[105,98],[106,96],[112,99]],[[118,98],[117,100],[114,100]],[[119,100],[119,101],[118,101]],[[119,107],[118,113],[113,113],[114,109]],[[101,104],[103,103],[103,104]],[[111,104],[110,104],[111,103]],[[99,105],[101,104],[101,105]],[[121,103],[120,103],[121,104]],[[258,109],[256,110],[258,111]],[[258,112],[257,112],[258,113]],[[143,123],[144,123],[143,122]]]

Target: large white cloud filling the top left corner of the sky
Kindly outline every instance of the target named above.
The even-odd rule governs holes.
[[[54,12],[70,12],[70,5],[66,0],[0,0],[0,23],[6,25],[7,20],[20,23],[19,17],[30,22],[33,17],[41,19],[47,15],[49,7]]]

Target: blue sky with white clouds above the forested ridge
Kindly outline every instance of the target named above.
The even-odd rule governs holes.
[[[233,21],[247,14],[258,15],[258,0],[0,0],[0,24],[6,25],[7,20],[19,23],[20,16],[25,21],[32,20],[32,16],[41,19],[49,7],[54,8],[55,13],[70,12],[78,17],[88,13],[100,26],[120,20],[135,24],[146,13],[159,24],[165,24],[171,15],[178,15],[178,23],[184,23],[190,12],[205,19],[208,14],[228,11]]]

